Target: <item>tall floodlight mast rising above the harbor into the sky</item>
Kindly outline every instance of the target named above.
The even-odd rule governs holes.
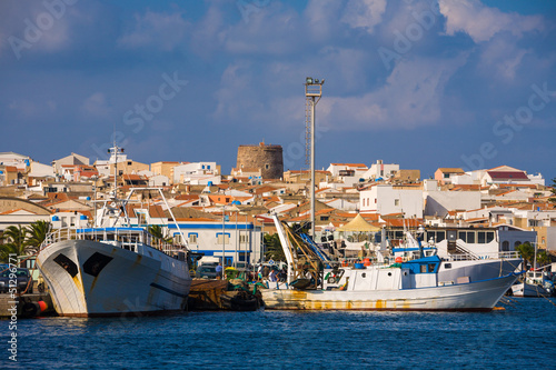
[[[315,120],[316,120],[316,106],[320,100],[322,94],[322,83],[325,83],[325,79],[314,79],[312,77],[307,77],[305,79],[305,101],[306,101],[306,111],[310,106],[310,122],[307,123],[307,130],[310,131],[310,166],[311,166],[311,189],[310,189],[310,222],[311,222],[311,237],[315,240]],[[310,124],[309,124],[310,123]],[[307,142],[306,142],[307,144]]]

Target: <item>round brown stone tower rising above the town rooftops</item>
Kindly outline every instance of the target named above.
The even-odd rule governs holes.
[[[237,169],[260,169],[264,179],[284,177],[281,146],[239,146]]]

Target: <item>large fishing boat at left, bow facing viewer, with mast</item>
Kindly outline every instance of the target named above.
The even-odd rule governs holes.
[[[163,197],[160,189],[133,190],[158,191]],[[116,193],[105,202],[95,227],[56,230],[37,256],[58,314],[182,311],[191,284],[187,246],[166,243],[143,228],[131,226],[126,212],[131,193],[126,200],[117,199]],[[180,239],[185,240],[182,236]]]

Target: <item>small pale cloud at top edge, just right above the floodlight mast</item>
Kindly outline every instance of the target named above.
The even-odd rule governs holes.
[[[351,28],[365,28],[373,33],[375,26],[381,22],[386,10],[386,0],[350,0],[341,21]]]

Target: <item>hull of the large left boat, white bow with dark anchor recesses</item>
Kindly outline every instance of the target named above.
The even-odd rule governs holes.
[[[68,268],[71,263],[60,254],[75,266]],[[93,254],[101,256],[105,261],[109,259],[109,262],[98,273],[98,267],[92,267],[91,274]],[[41,250],[37,263],[60,316],[139,316],[181,311],[187,306],[191,284],[186,261],[145,244],[136,252],[98,241],[66,240]],[[85,263],[89,266],[83,268]]]

